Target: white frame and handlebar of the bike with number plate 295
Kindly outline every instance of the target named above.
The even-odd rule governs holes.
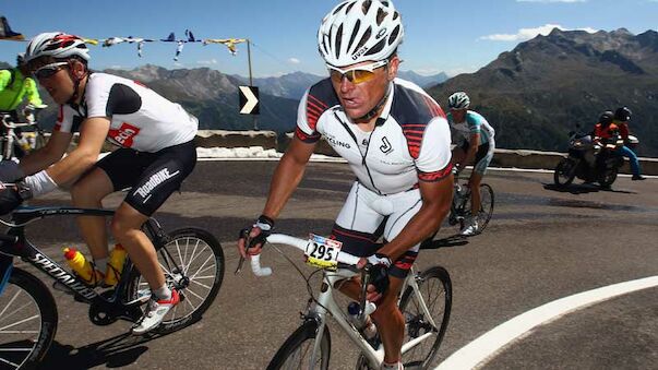
[[[295,238],[291,236],[283,235],[283,234],[273,234],[267,237],[267,241],[274,244],[285,244],[297,248],[301,251],[306,251],[306,246],[308,240]],[[360,258],[340,252],[338,254],[338,262],[356,266],[359,262]],[[272,274],[272,268],[270,267],[261,267],[260,264],[260,255],[253,255],[251,258],[251,268],[256,276],[268,276]],[[370,367],[379,368],[384,360],[384,348],[382,345],[379,348],[373,348],[370,343],[361,335],[361,333],[347,320],[345,314],[345,309],[338,307],[336,301],[334,300],[334,284],[356,276],[358,273],[347,270],[347,268],[338,268],[337,271],[323,271],[323,283],[327,285],[327,289],[320,293],[316,298],[315,305],[310,305],[307,311],[306,318],[313,319],[318,322],[318,333],[315,335],[315,343],[313,345],[313,353],[310,358],[310,369],[313,368],[313,363],[315,363],[316,354],[319,354],[321,342],[318,338],[322,339],[324,334],[324,329],[326,326],[326,314],[330,313],[334,320],[338,323],[343,332],[347,334],[347,336],[361,349],[361,354],[368,359]],[[420,289],[416,282],[416,273],[414,267],[409,271],[409,274],[405,278],[400,293],[404,293],[407,287],[411,287],[414,289],[414,295],[416,296],[417,301],[419,302],[420,308],[426,314],[426,318],[430,321],[432,326],[438,327],[436,323],[433,321],[432,315],[429,312],[429,309],[422,299],[420,294]],[[399,298],[398,298],[399,299]],[[367,312],[368,313],[368,312]],[[414,347],[418,346],[426,339],[431,338],[432,336],[438,335],[436,332],[426,333],[412,341],[405,343],[402,347],[402,354],[409,351]]]

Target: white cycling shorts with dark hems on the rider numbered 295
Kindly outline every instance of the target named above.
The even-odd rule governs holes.
[[[356,181],[336,218],[332,238],[342,241],[342,250],[349,254],[372,255],[382,248],[382,243],[378,243],[380,238],[383,237],[386,243],[397,237],[421,205],[418,189],[379,195]],[[388,274],[405,278],[418,255],[419,247],[420,243],[411,247],[393,261]]]

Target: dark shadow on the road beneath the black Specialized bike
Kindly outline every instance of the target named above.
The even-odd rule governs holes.
[[[53,341],[39,369],[71,370],[89,369],[100,365],[108,368],[129,366],[148,350],[144,344],[166,335],[168,334],[135,336],[129,332],[80,348]]]

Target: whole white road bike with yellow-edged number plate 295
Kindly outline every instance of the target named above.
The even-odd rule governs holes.
[[[336,240],[311,235],[309,240],[283,234],[267,237],[272,244],[283,244],[304,251],[307,263],[322,272],[322,289],[318,297],[309,299],[302,324],[278,349],[267,369],[328,369],[331,335],[327,319],[331,315],[338,327],[360,349],[357,369],[380,369],[384,359],[384,348],[375,337],[368,338],[348,318],[334,298],[335,284],[356,276],[354,266],[358,256],[340,252]],[[350,270],[349,266],[352,268]],[[251,267],[256,276],[272,274],[270,267],[262,267],[260,255],[251,258]],[[345,268],[347,267],[347,268]],[[334,270],[336,268],[336,270]],[[361,272],[362,291],[359,302],[359,321],[364,322],[373,311],[373,303],[366,301],[364,288],[369,282],[369,267]],[[308,282],[308,279],[307,279]],[[308,283],[307,283],[308,284]],[[311,291],[311,290],[310,290]],[[431,366],[447,329],[452,307],[452,283],[447,271],[433,266],[422,272],[414,268],[406,277],[398,307],[405,317],[405,342],[402,348],[403,362],[407,369],[427,369]]]

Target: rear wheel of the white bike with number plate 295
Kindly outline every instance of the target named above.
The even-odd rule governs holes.
[[[427,321],[426,313],[422,312],[423,310],[420,307],[418,298],[416,298],[414,288],[407,287],[399,300],[399,310],[405,317],[404,343],[430,331],[434,332],[436,336],[433,341],[424,341],[404,354],[403,362],[405,367],[429,369],[439,351],[439,346],[441,346],[447,329],[453,301],[453,288],[450,274],[441,266],[430,267],[417,274],[415,278],[422,300],[426,302],[428,311],[430,311],[432,320],[438,327]]]

